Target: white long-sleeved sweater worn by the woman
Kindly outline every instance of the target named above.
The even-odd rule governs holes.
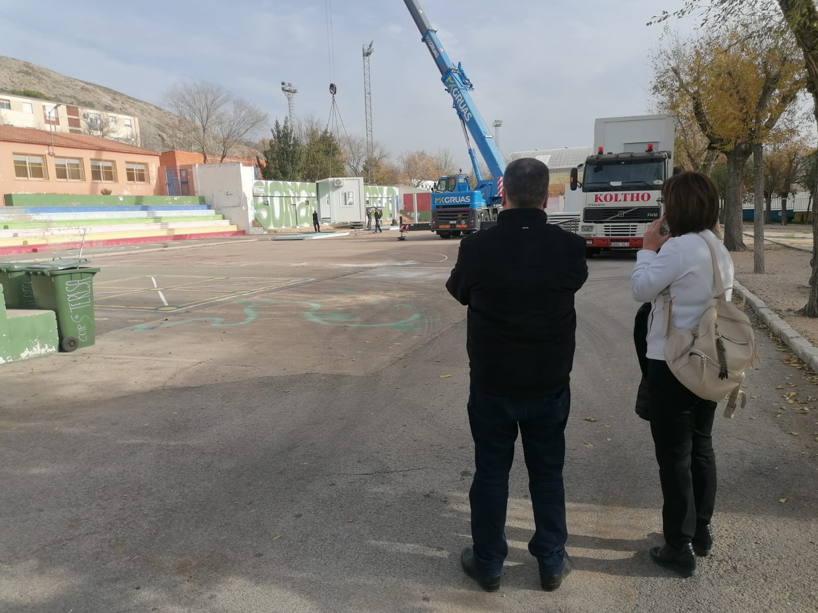
[[[701,237],[701,238],[699,238]],[[676,236],[663,244],[659,253],[642,249],[636,254],[631,275],[631,292],[637,302],[653,302],[648,318],[648,352],[650,360],[664,360],[664,299],[668,286],[673,300],[673,328],[694,328],[704,314],[704,307],[716,294],[710,250],[716,252],[721,279],[728,300],[733,293],[733,260],[730,253],[710,230],[699,234]]]

